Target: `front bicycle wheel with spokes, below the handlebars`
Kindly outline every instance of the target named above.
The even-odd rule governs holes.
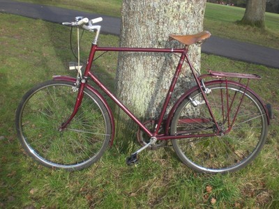
[[[17,107],[15,126],[24,150],[45,167],[80,170],[96,162],[112,135],[103,102],[84,88],[80,109],[59,131],[75,107],[73,82],[47,81],[31,88]]]

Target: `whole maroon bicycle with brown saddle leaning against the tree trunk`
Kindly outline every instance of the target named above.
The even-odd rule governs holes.
[[[167,140],[172,141],[180,160],[199,172],[236,171],[255,159],[264,146],[272,118],[271,106],[264,104],[248,87],[251,79],[261,77],[212,70],[206,75],[195,72],[188,57],[188,46],[209,38],[208,31],[188,36],[171,35],[184,45],[177,49],[99,47],[100,25],[95,23],[100,21],[101,17],[93,20],[76,17],[75,22],[63,23],[96,33],[84,72],[78,59],[77,78],[54,76],[31,88],[17,107],[17,136],[34,160],[46,167],[79,170],[99,160],[107,146],[112,146],[115,132],[112,110],[103,95],[89,85],[89,79],[139,126],[137,138],[143,146],[127,158],[127,164],[137,163],[142,150],[162,146]],[[179,63],[158,118],[141,122],[100,82],[91,71],[95,52],[179,54]],[[190,66],[197,86],[181,95],[165,119],[183,63]]]

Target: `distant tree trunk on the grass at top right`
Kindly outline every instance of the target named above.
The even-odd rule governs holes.
[[[266,0],[248,0],[241,23],[264,28],[265,12]]]

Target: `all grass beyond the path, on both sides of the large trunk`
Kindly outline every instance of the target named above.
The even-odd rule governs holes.
[[[31,3],[42,3],[50,6],[59,6],[82,10],[91,13],[99,13],[120,17],[121,0],[17,0]],[[100,3],[101,2],[101,3]],[[110,8],[110,9],[107,9]],[[206,3],[206,12],[204,15],[204,29],[211,31],[213,36],[230,38],[243,42],[251,42],[257,45],[273,47],[279,49],[279,14],[266,13],[266,29],[257,29],[252,26],[243,26],[236,24],[241,20],[245,8],[225,6],[216,3]]]

